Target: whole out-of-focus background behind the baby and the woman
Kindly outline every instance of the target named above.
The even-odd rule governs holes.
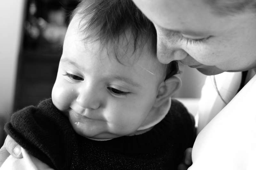
[[[0,1],[0,146],[13,112],[51,97],[70,12],[77,0]],[[195,115],[205,76],[184,66],[173,96]]]

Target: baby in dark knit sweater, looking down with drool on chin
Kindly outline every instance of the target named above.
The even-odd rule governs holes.
[[[157,60],[154,26],[132,1],[82,1],[52,98],[13,114],[5,130],[37,168],[177,169],[195,137],[193,117],[170,98],[177,73]]]

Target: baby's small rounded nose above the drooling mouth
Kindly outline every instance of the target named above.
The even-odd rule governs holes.
[[[84,109],[97,109],[100,107],[100,94],[95,87],[82,86],[79,88],[78,93],[76,102]]]

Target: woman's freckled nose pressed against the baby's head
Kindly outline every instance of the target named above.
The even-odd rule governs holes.
[[[167,64],[174,60],[186,58],[188,53],[181,47],[179,37],[171,34],[157,32],[157,58],[161,63]]]

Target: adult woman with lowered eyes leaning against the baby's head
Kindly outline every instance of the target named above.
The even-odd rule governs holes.
[[[162,63],[206,75],[256,70],[255,0],[133,0],[156,26]],[[198,135],[194,169],[252,169],[256,77]]]

